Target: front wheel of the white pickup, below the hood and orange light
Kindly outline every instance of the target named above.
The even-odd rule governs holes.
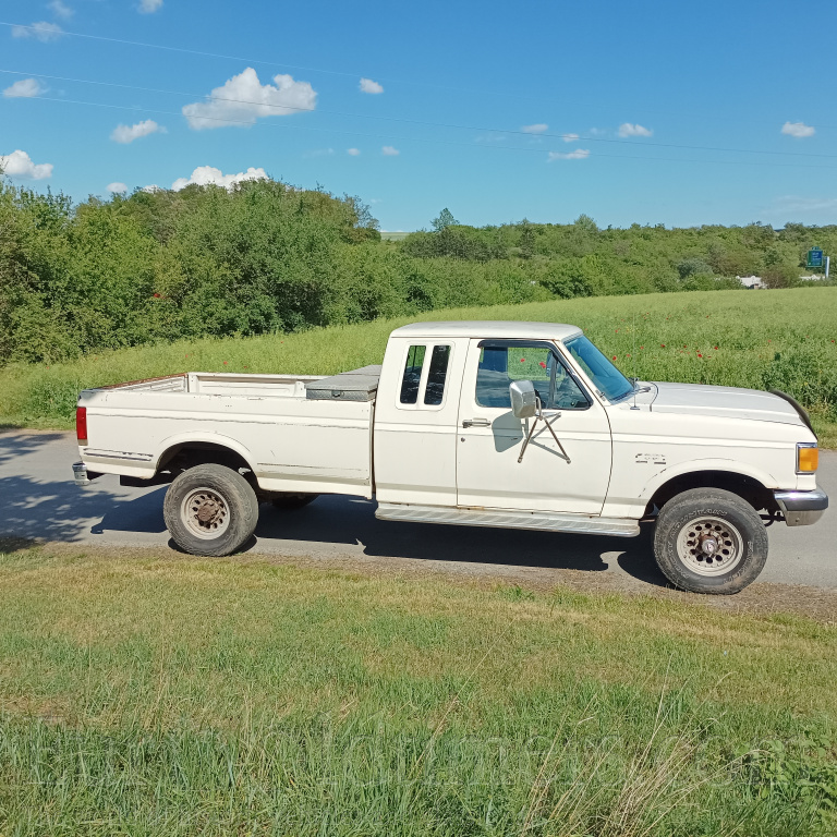
[[[749,502],[720,488],[693,488],[659,512],[654,556],[665,577],[692,593],[730,595],[767,560],[767,532]]]

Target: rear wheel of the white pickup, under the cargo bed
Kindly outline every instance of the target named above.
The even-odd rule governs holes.
[[[253,486],[223,465],[197,465],[169,486],[162,513],[174,543],[190,555],[220,557],[240,549],[258,522]]]

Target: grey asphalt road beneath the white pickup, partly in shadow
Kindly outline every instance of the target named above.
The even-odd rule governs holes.
[[[0,534],[105,546],[166,546],[165,486],[123,488],[104,476],[77,488],[75,438],[65,433],[0,433]],[[837,453],[823,451],[818,484],[837,502]],[[635,538],[560,535],[377,521],[375,505],[320,497],[300,511],[262,507],[255,553],[311,558],[399,558],[436,566],[490,565],[615,573],[663,584],[650,533]],[[761,582],[837,589],[837,511],[814,526],[769,526]]]

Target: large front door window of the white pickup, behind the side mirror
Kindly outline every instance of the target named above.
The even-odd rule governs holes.
[[[476,372],[476,403],[510,410],[509,384],[513,380],[531,380],[546,409],[590,407],[579,385],[547,347],[484,345]]]

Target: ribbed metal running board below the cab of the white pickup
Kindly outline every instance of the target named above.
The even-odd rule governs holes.
[[[584,535],[635,537],[640,534],[640,526],[635,520],[592,518],[585,514],[558,514],[548,511],[486,511],[452,509],[445,506],[380,502],[375,511],[375,517],[378,520],[400,520],[410,523],[534,529],[543,532],[575,532]]]

